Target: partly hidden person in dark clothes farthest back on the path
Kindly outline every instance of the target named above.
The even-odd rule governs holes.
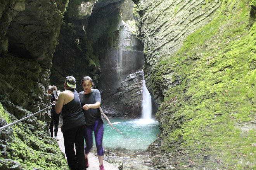
[[[50,89],[50,94],[52,95],[51,103],[53,101],[57,101],[57,99],[55,99],[54,94],[53,94],[54,90],[57,90],[57,87],[56,86],[51,86],[51,89]],[[57,136],[57,133],[58,133],[58,130],[59,130],[60,115],[55,112],[54,107],[55,107],[55,105],[52,105],[52,109],[51,109],[51,118],[52,118],[52,120],[50,122],[50,133],[51,133],[51,137],[53,138],[53,126],[54,126],[54,139],[56,139],[56,141],[59,141],[59,140],[61,140],[61,138],[59,138]]]

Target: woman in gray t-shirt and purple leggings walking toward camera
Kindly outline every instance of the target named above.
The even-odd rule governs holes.
[[[94,83],[92,82],[92,78],[89,76],[85,76],[82,79],[82,86],[84,91],[79,93],[81,105],[83,108],[83,112],[85,114],[86,120],[86,129],[85,129],[85,162],[86,167],[89,166],[88,164],[88,153],[92,149],[92,131],[94,131],[95,136],[95,143],[97,147],[97,155],[100,163],[100,170],[104,170],[103,166],[103,133],[104,133],[104,126],[103,121],[100,114],[100,92],[97,89],[93,89]]]

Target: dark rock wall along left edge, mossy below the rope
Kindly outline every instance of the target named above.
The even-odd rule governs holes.
[[[65,0],[0,2],[0,126],[44,109]],[[0,131],[0,169],[65,169],[49,109]],[[56,154],[56,155],[53,155]]]

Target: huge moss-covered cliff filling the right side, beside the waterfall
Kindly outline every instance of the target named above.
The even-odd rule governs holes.
[[[255,0],[137,0],[154,169],[255,168]]]

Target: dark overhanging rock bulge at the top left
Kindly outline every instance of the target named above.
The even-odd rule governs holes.
[[[59,3],[57,6],[51,3],[53,2],[50,0],[36,0],[26,3],[20,1],[14,5],[7,4],[7,7],[18,11],[15,17],[11,14],[4,37],[9,42],[9,53],[20,58],[41,61],[50,68],[49,63],[57,45],[64,12],[64,4]]]

